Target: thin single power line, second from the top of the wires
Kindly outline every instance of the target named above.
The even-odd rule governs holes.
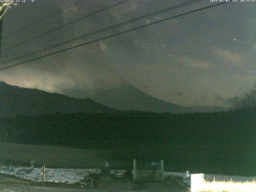
[[[46,34],[48,34],[48,33],[50,33],[50,32],[53,32],[53,31],[55,31],[55,30],[59,30],[59,29],[65,27],[65,26],[68,26],[68,25],[70,25],[70,24],[73,24],[73,23],[78,22],[78,21],[80,21],[80,20],[83,20],[83,19],[85,19],[85,18],[88,18],[88,17],[90,17],[90,16],[93,16],[93,15],[95,15],[95,14],[98,14],[98,13],[100,13],[100,12],[102,12],[102,11],[108,10],[108,9],[114,7],[114,6],[117,6],[117,5],[120,5],[120,4],[122,4],[122,3],[125,3],[125,2],[127,2],[127,1],[129,1],[129,0],[123,0],[123,1],[118,2],[118,3],[116,3],[116,4],[112,4],[112,5],[110,5],[110,6],[106,7],[106,8],[104,8],[104,9],[101,9],[101,10],[99,10],[99,11],[96,11],[96,12],[94,12],[94,13],[92,13],[92,14],[88,14],[88,15],[82,17],[82,18],[76,19],[76,20],[74,20],[74,21],[72,21],[72,22],[69,22],[69,23],[67,23],[67,24],[65,24],[65,25],[62,25],[62,26],[57,27],[57,28],[55,28],[55,29],[52,29],[52,30],[50,30],[50,31],[48,31],[48,32],[45,32],[45,33],[43,33],[43,34],[40,34],[40,35],[38,35],[38,36],[36,36],[36,37],[34,37],[34,38],[28,39],[28,40],[26,40],[26,41],[24,41],[24,42],[22,42],[22,43],[19,43],[19,44],[16,44],[16,45],[12,46],[12,47],[9,47],[9,48],[7,48],[6,50],[3,50],[1,53],[6,52],[6,51],[8,51],[8,50],[10,50],[10,49],[12,49],[12,48],[14,48],[14,47],[16,47],[16,46],[20,46],[20,45],[22,45],[22,44],[24,44],[24,43],[30,42],[30,41],[32,41],[32,40],[34,40],[34,39],[36,39],[36,38],[41,37],[41,36],[44,36],[44,35],[46,35]]]

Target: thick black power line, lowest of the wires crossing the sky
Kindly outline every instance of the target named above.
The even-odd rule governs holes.
[[[184,15],[187,15],[187,14],[190,14],[190,13],[198,12],[198,11],[201,11],[201,10],[205,10],[205,9],[212,8],[212,7],[219,6],[219,5],[226,4],[226,3],[228,3],[228,2],[218,3],[218,4],[211,5],[211,6],[206,6],[206,7],[200,8],[200,9],[196,9],[196,10],[193,10],[193,11],[190,11],[190,12],[182,13],[182,14],[179,14],[179,15],[176,15],[176,16],[172,16],[172,17],[160,20],[160,21],[156,21],[156,22],[146,24],[146,25],[143,25],[143,26],[139,26],[139,27],[136,27],[136,28],[133,28],[133,29],[130,29],[130,30],[126,30],[126,31],[119,32],[119,33],[116,33],[116,34],[113,34],[113,35],[109,35],[109,36],[106,36],[106,37],[103,37],[103,38],[99,38],[99,39],[96,39],[96,40],[93,40],[93,41],[90,41],[90,42],[86,42],[86,43],[83,43],[83,44],[80,44],[80,45],[76,45],[76,46],[73,46],[73,47],[70,47],[70,48],[66,48],[64,50],[60,50],[60,51],[57,51],[57,52],[46,54],[46,55],[40,56],[38,58],[34,58],[34,59],[31,59],[31,60],[20,62],[18,64],[14,64],[14,65],[11,65],[11,66],[0,68],[0,70],[5,70],[5,69],[8,69],[8,68],[11,68],[11,67],[14,67],[14,66],[25,64],[25,63],[28,63],[28,62],[31,62],[31,61],[34,61],[34,60],[38,60],[38,59],[41,59],[41,58],[44,58],[44,57],[47,57],[47,56],[51,56],[51,55],[54,55],[54,54],[58,54],[58,53],[67,51],[67,50],[71,50],[71,49],[78,48],[78,47],[81,47],[81,46],[84,46],[84,45],[87,45],[87,44],[91,44],[91,43],[94,43],[94,42],[97,42],[97,41],[100,41],[100,40],[104,40],[106,38],[114,37],[114,36],[117,36],[117,35],[120,35],[120,34],[124,34],[124,33],[130,32],[130,31],[133,31],[133,30],[137,30],[137,29],[146,27],[146,26],[150,26],[150,25],[153,25],[153,24],[156,24],[156,23],[160,23],[160,22],[163,22],[163,21],[166,21],[166,20],[170,20],[170,19],[173,19],[173,18],[177,18],[177,17],[180,17],[180,16],[184,16]]]

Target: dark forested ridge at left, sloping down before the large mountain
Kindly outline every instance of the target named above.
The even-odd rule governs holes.
[[[90,98],[72,98],[35,88],[21,88],[0,82],[0,116],[38,115],[53,113],[116,113]]]

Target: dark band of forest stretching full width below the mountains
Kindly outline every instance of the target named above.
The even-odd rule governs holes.
[[[0,118],[8,141],[76,147],[254,146],[256,110],[192,114],[51,114]]]

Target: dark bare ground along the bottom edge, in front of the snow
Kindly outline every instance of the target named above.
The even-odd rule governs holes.
[[[44,186],[45,185],[45,186]],[[132,179],[113,179],[111,181],[97,181],[95,189],[86,189],[79,186],[43,184],[42,182],[28,182],[0,174],[1,192],[186,192],[186,189],[176,182],[164,181],[134,181]]]

